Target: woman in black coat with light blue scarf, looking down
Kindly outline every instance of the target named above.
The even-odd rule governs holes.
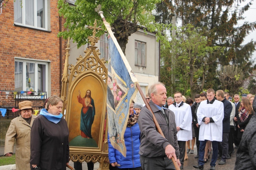
[[[69,163],[69,130],[62,117],[63,100],[57,96],[48,99],[31,129],[31,157],[33,168],[66,170]],[[32,169],[31,167],[31,169]]]

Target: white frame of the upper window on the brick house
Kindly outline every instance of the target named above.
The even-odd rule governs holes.
[[[44,14],[45,28],[37,27],[37,0],[34,0],[34,26],[26,24],[26,0],[16,0],[16,1],[18,1],[22,7],[22,9],[21,9],[22,10],[22,23],[15,22],[15,20],[14,20],[15,25],[34,28],[34,29],[38,29],[38,30],[50,31],[50,29],[48,28],[48,23],[50,21],[49,16],[48,16],[49,15],[48,14],[48,8],[49,8],[48,0],[44,1],[44,3],[45,3],[45,14]],[[15,13],[15,7],[14,7],[14,13]]]

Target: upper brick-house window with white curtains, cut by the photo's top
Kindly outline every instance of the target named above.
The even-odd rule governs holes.
[[[47,30],[47,0],[14,1],[14,23]]]

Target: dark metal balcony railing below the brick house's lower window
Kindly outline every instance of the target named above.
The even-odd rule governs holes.
[[[31,92],[31,91],[5,91],[0,90],[0,108],[5,108],[6,114],[3,117],[0,114],[0,119],[13,119],[19,116],[19,112],[12,112],[12,108],[18,109],[19,102],[31,101],[34,110],[44,108],[44,102],[47,99],[47,92]]]

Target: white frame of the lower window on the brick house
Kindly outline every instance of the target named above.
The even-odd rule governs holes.
[[[22,75],[22,87],[23,91],[26,91],[26,63],[33,63],[35,64],[35,84],[34,84],[34,91],[37,93],[41,93],[41,91],[38,90],[38,64],[45,65],[45,91],[48,94],[48,62],[42,62],[37,60],[23,60],[23,59],[17,59],[15,58],[15,62],[22,62],[23,63],[23,75]],[[15,82],[15,80],[14,80]]]

